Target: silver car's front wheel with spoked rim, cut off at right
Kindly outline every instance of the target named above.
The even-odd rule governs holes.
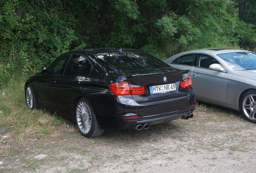
[[[246,92],[240,101],[240,110],[244,118],[256,123],[256,90]]]

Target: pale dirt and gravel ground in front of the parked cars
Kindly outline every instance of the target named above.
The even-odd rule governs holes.
[[[148,130],[105,130],[93,139],[80,135],[75,125],[38,139],[13,140],[17,137],[5,133],[0,173],[256,172],[256,124],[230,110],[194,115]]]

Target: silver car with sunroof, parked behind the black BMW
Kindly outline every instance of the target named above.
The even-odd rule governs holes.
[[[256,123],[256,53],[210,48],[182,52],[165,60],[189,69],[196,100],[241,111]]]

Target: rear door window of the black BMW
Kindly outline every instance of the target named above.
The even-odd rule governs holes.
[[[85,60],[84,56],[73,54],[70,60],[68,61],[64,74],[78,76],[84,60]]]

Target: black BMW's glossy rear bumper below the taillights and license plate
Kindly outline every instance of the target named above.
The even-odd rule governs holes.
[[[101,100],[109,107],[93,107],[101,129],[128,129],[139,124],[155,125],[167,121],[180,119],[184,115],[193,113],[195,104],[194,90],[189,90],[184,97],[159,101],[149,104],[138,104],[132,97],[118,97]],[[97,101],[97,105],[99,101]],[[95,105],[94,105],[95,106]],[[138,118],[124,119],[123,116],[138,115]]]

